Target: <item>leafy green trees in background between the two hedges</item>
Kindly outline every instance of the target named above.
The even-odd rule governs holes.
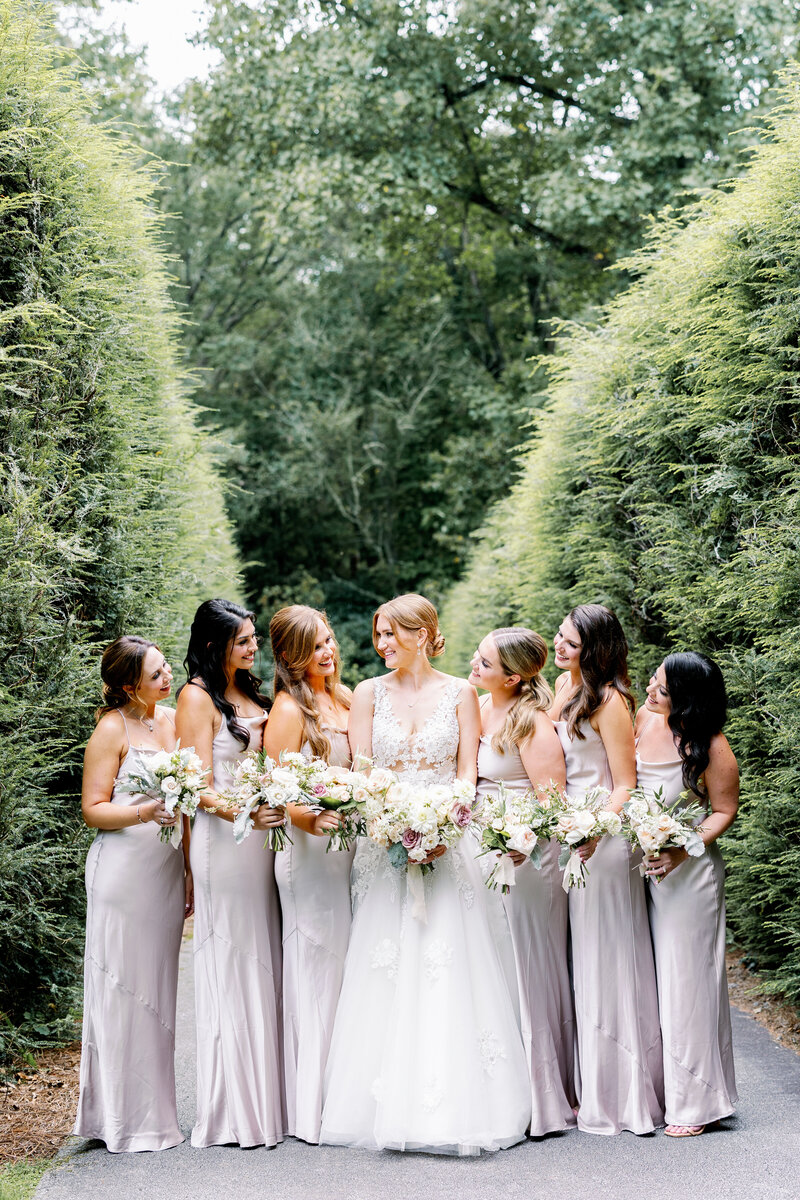
[[[161,150],[187,353],[253,602],[327,607],[357,678],[374,605],[441,595],[507,492],[549,320],[729,172],[796,6],[211,7]]]

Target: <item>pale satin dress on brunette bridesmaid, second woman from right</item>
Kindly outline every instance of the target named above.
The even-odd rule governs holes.
[[[602,738],[589,721],[571,738],[555,721],[566,760],[566,790],[613,788]],[[570,890],[572,982],[577,1028],[578,1129],[651,1133],[663,1124],[658,997],[642,859],[624,838],[602,838],[584,888]]]

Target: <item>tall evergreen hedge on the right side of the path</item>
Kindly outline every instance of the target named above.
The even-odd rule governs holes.
[[[551,636],[603,601],[642,696],[662,654],[717,658],[744,805],[736,938],[800,1000],[800,73],[742,178],[664,215],[596,329],[565,330],[547,410],[443,616],[463,668],[493,625]]]

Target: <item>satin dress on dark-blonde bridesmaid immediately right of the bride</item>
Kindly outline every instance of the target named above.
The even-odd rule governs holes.
[[[506,792],[530,790],[519,751],[498,751],[492,746],[492,738],[485,734],[477,751],[477,794],[494,796],[500,784]],[[516,883],[503,896],[519,989],[522,1040],[530,1072],[531,1138],[576,1123],[569,904],[558,865],[560,846],[551,841],[540,845],[540,851],[541,870],[530,862],[516,868]],[[486,856],[485,860],[493,862],[493,856]]]

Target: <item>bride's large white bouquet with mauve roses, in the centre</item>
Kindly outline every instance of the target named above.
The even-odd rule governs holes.
[[[421,786],[373,770],[368,776],[367,835],[385,846],[392,866],[420,866],[438,846],[455,846],[473,823],[475,787],[463,780]],[[378,776],[378,778],[377,778]]]

